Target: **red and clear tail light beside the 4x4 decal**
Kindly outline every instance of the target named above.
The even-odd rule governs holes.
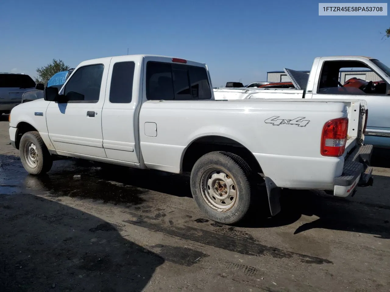
[[[347,143],[348,118],[328,121],[322,130],[321,155],[339,157]]]

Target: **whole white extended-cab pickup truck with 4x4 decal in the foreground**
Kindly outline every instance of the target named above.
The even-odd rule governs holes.
[[[60,91],[20,104],[9,135],[30,174],[57,157],[173,173],[216,222],[238,222],[265,180],[271,215],[281,188],[353,194],[372,185],[362,100],[214,100],[207,65],[150,55],[80,63]]]

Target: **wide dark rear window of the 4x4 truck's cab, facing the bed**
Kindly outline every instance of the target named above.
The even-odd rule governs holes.
[[[211,99],[207,71],[203,67],[147,62],[148,100]]]

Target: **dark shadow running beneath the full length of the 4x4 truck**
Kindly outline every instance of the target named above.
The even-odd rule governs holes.
[[[12,174],[14,178],[25,181],[27,187],[49,190],[54,196],[91,198],[128,206],[143,204],[145,199],[142,194],[149,190],[177,197],[191,197],[188,176],[115,165],[100,167],[83,160],[67,160],[55,162],[48,175],[36,178],[27,175],[18,157],[6,157],[16,161],[7,166],[10,171],[14,169]],[[22,176],[19,179],[18,172]],[[80,178],[74,178],[74,175],[80,175]],[[390,178],[378,178],[381,180],[376,181],[379,185],[390,184]],[[368,197],[358,197],[358,192],[352,199],[340,199],[308,190],[284,190],[281,198],[282,211],[277,216],[269,218],[266,190],[264,185],[259,185],[259,196],[254,198],[250,213],[236,226],[279,227],[297,222],[302,215],[306,215],[319,218],[300,225],[295,233],[323,228],[374,234],[379,238],[389,239],[390,198],[385,190],[378,191],[380,187],[375,189],[374,186],[370,189],[369,192],[374,194],[372,197],[381,199],[380,202],[373,201],[371,193]],[[356,197],[360,201],[356,201]]]

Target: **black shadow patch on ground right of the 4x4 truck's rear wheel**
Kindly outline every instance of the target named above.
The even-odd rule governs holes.
[[[355,196],[358,196],[358,193]],[[319,218],[303,223],[294,234],[322,228],[373,234],[378,238],[390,239],[390,204],[376,204],[364,199],[353,201],[326,194],[319,195],[309,190],[284,190],[281,206],[282,211],[273,218],[259,220],[258,213],[256,215],[252,212],[246,220],[239,223],[239,226],[250,228],[285,226],[299,221],[302,215],[306,215]],[[266,208],[263,208],[264,212],[268,211]]]

